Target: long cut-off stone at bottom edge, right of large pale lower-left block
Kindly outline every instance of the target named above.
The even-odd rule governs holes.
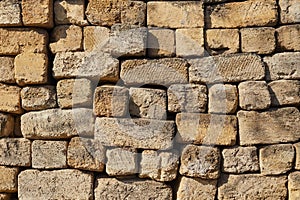
[[[97,178],[95,200],[156,199],[172,200],[172,189],[164,183],[141,179]],[[116,192],[118,191],[118,192]]]

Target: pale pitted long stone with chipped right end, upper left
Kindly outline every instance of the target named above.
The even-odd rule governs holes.
[[[56,79],[74,77],[93,77],[103,81],[119,79],[119,61],[99,52],[57,53],[52,70]]]

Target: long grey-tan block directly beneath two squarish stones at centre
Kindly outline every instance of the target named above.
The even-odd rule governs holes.
[[[95,138],[106,146],[168,149],[172,146],[175,123],[151,119],[96,118]]]

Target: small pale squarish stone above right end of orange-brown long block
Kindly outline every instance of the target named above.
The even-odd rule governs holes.
[[[208,112],[233,114],[238,107],[238,91],[235,85],[215,84],[208,91]]]

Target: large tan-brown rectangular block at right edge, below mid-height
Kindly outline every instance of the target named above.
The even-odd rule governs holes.
[[[274,144],[297,141],[300,113],[297,108],[280,108],[266,112],[239,111],[241,145]]]

